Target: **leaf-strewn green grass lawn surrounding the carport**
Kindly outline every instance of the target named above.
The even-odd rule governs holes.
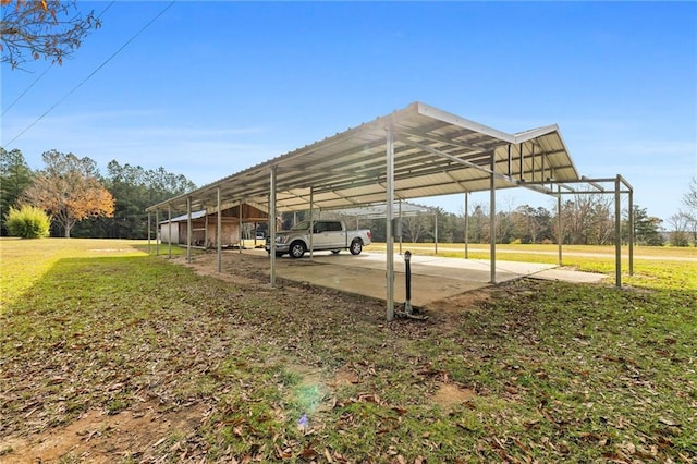
[[[521,280],[449,317],[384,323],[380,303],[239,286],[145,248],[0,241],[0,442],[157,398],[208,405],[168,443],[213,462],[697,460],[694,261],[637,258],[626,289]],[[612,259],[568,265],[612,274]],[[475,395],[445,407],[445,383]],[[148,457],[176,461],[168,450]]]

